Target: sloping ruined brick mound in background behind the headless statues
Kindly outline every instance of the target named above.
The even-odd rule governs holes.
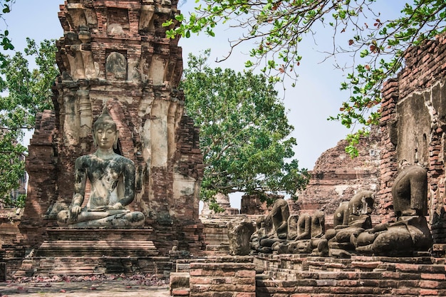
[[[296,202],[300,213],[323,210],[327,228],[333,226],[333,213],[341,202],[349,201],[361,189],[377,191],[380,187],[379,130],[374,128],[368,137],[361,137],[358,157],[351,158],[345,151],[346,145],[347,141],[341,140],[336,147],[323,152],[310,172],[308,186]],[[376,195],[375,205],[378,198]],[[374,212],[373,221],[376,220],[377,212]]]

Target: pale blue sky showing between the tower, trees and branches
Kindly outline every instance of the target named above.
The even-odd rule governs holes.
[[[403,2],[400,0],[378,0],[380,11],[387,14],[398,14]],[[16,0],[10,14],[5,15],[9,26],[10,36],[16,49],[21,51],[25,44],[25,38],[30,37],[36,41],[43,39],[60,38],[63,35],[61,24],[58,20],[59,5],[63,0]],[[195,6],[195,1],[187,1],[180,6],[185,13]],[[4,24],[0,24],[4,29]],[[183,58],[188,53],[199,53],[206,48],[211,48],[211,60],[226,56],[229,51],[228,34],[231,32],[222,28],[216,38],[200,34],[189,39],[180,40],[183,48]],[[323,30],[319,36],[325,34]],[[322,39],[322,40],[321,40]],[[318,39],[318,46],[323,42],[329,42],[328,37]],[[299,79],[295,88],[286,88],[284,104],[289,109],[289,122],[294,125],[293,136],[298,145],[295,148],[295,158],[299,160],[301,167],[309,170],[322,152],[334,147],[350,131],[338,122],[327,121],[330,115],[336,115],[347,92],[341,92],[339,85],[343,81],[343,73],[334,69],[333,61],[323,63],[324,55],[318,52],[318,46],[313,41],[301,44],[304,56],[299,66]],[[247,60],[248,47],[241,47],[234,55],[223,63],[213,63],[212,66],[221,68],[234,68],[237,71],[244,69],[244,61]],[[185,61],[185,66],[187,65]],[[289,82],[286,85],[290,85]],[[278,88],[279,90],[279,88]]]

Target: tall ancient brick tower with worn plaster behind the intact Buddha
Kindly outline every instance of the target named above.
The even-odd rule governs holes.
[[[137,194],[161,253],[201,248],[198,132],[183,115],[177,85],[182,52],[161,24],[170,0],[68,0],[58,16],[64,36],[56,56],[55,113],[43,113],[29,147],[23,242],[33,246],[73,197],[73,166],[95,150],[91,129],[107,102],[120,130],[118,153],[135,162]],[[45,219],[43,219],[45,218]],[[162,244],[161,244],[162,243]]]

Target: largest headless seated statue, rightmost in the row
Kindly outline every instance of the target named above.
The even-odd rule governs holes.
[[[392,187],[395,223],[378,224],[356,240],[356,252],[378,256],[413,256],[432,247],[427,226],[427,172],[417,165],[403,167]]]

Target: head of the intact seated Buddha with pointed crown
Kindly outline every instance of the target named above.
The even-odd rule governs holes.
[[[116,123],[111,118],[107,108],[104,107],[103,113],[93,125],[93,141],[99,148],[107,150],[111,147],[116,148],[118,137],[119,131]]]

